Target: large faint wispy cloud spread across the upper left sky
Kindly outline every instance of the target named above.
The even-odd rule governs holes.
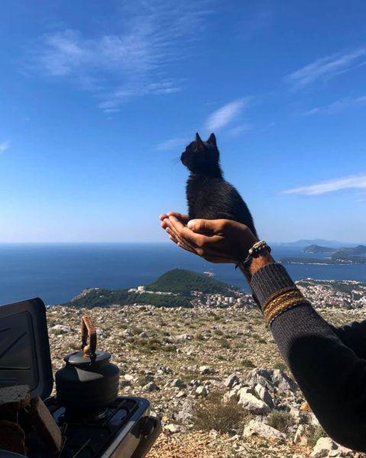
[[[119,12],[120,33],[45,34],[29,49],[24,65],[38,75],[77,83],[97,96],[104,110],[135,96],[178,92],[182,81],[169,76],[171,66],[194,52],[210,1],[178,0],[174,7],[161,0],[126,4]]]

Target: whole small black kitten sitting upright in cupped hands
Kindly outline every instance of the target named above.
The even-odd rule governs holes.
[[[223,179],[215,134],[207,142],[191,142],[181,161],[190,171],[186,194],[189,219],[234,220],[248,226],[256,235],[252,215],[236,189]]]

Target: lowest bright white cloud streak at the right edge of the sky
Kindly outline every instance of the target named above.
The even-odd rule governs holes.
[[[281,194],[319,195],[343,189],[366,189],[366,175],[351,175],[349,177],[336,178],[315,185],[301,186],[282,191]]]

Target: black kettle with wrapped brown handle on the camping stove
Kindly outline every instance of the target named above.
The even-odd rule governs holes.
[[[57,399],[67,412],[86,414],[113,402],[118,394],[119,369],[108,351],[97,350],[97,333],[91,319],[81,318],[81,351],[65,356],[56,372]]]

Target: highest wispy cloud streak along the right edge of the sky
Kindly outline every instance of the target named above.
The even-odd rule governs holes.
[[[350,71],[364,65],[366,48],[359,48],[347,53],[332,54],[316,59],[311,64],[296,70],[286,77],[295,86],[305,86],[319,79],[329,79],[332,76]]]

